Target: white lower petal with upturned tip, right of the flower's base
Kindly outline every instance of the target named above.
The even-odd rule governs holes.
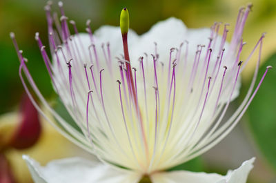
[[[244,162],[235,171],[228,171],[222,176],[216,173],[193,173],[189,171],[172,171],[155,173],[151,176],[152,183],[246,183],[248,174],[253,168],[255,157]]]

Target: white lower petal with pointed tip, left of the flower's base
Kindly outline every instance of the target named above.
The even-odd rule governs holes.
[[[35,183],[108,183],[139,182],[140,175],[126,170],[117,170],[99,162],[80,157],[56,160],[41,166],[23,155]]]

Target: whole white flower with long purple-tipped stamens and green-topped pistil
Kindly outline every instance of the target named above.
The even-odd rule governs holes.
[[[152,182],[246,182],[253,160],[226,177],[164,170],[208,151],[223,139],[262,84],[264,77],[253,91],[256,67],[244,102],[224,119],[230,102],[239,94],[239,75],[252,56],[245,64],[240,61],[242,32],[251,6],[239,11],[230,44],[226,42],[228,25],[187,29],[175,18],[157,23],[141,36],[122,29],[124,44],[120,28],[103,26],[92,34],[90,21],[88,34],[79,34],[75,22],[70,21],[75,30],[71,35],[62,3],[59,6],[61,23],[55,21],[56,29],[50,6],[46,6],[52,62],[38,33],[35,39],[54,89],[81,131],[43,98],[12,33],[21,61],[19,75],[32,99],[23,70],[34,93],[59,124],[44,116],[68,139],[109,165],[71,159],[41,168],[24,157],[36,182],[138,182],[143,176]],[[224,27],[222,36],[218,34],[220,27]],[[263,38],[253,52],[259,46],[260,54]]]

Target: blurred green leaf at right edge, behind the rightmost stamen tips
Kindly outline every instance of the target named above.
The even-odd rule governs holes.
[[[250,104],[248,115],[250,129],[259,148],[276,170],[276,54],[259,69],[257,81],[261,79],[266,66],[273,66],[273,69],[268,71],[261,88]]]

